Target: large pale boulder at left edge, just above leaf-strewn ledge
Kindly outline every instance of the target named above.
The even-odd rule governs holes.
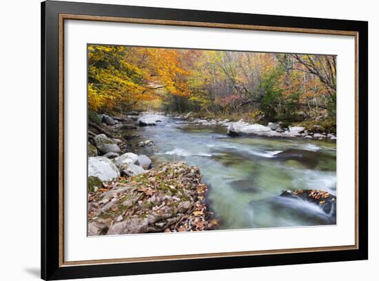
[[[120,172],[111,160],[97,156],[88,158],[88,176],[95,176],[107,181],[119,177]]]

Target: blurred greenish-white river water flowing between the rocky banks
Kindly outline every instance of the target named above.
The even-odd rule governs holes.
[[[226,127],[160,116],[134,142],[154,165],[183,160],[198,165],[209,186],[207,200],[221,229],[331,225],[336,217],[305,200],[280,197],[287,189],[319,189],[336,195],[336,142],[301,138],[229,137]],[[135,134],[135,132],[133,132]]]

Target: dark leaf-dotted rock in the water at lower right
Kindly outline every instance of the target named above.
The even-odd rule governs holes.
[[[287,190],[283,191],[280,196],[307,200],[308,202],[318,205],[323,211],[325,211],[325,214],[328,214],[329,216],[336,216],[336,196],[329,194],[327,191],[309,189]]]

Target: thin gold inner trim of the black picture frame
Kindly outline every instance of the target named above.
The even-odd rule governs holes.
[[[65,262],[64,260],[64,21],[106,21],[118,23],[143,23],[153,25],[179,25],[203,28],[227,28],[236,30],[263,30],[274,32],[296,32],[311,34],[331,34],[354,36],[355,40],[355,242],[354,245],[309,247],[296,249],[274,249],[262,251],[235,251],[223,253],[201,253],[175,256],[150,256],[142,258],[116,258],[105,260],[78,260]],[[70,267],[90,264],[116,264],[125,262],[156,262],[163,260],[188,260],[201,258],[221,258],[232,256],[256,256],[273,253],[304,253],[309,251],[342,251],[359,249],[358,245],[358,35],[359,32],[344,30],[319,30],[307,28],[283,28],[263,25],[241,25],[228,23],[204,23],[195,21],[172,21],[158,19],[135,19],[127,17],[102,17],[83,14],[59,14],[59,267]]]

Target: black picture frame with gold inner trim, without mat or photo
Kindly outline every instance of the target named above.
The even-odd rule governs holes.
[[[64,21],[69,19],[354,36],[356,42],[355,243],[336,247],[65,262],[63,39]],[[41,278],[44,280],[93,278],[368,258],[368,23],[366,21],[45,1],[41,3],[41,35]]]

